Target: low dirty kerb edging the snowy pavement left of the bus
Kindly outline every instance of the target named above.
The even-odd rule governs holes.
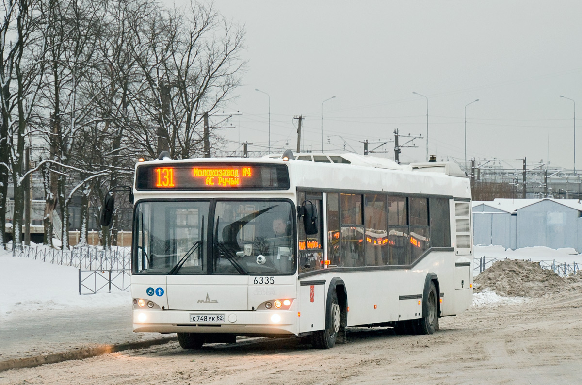
[[[34,366],[44,365],[45,363],[56,363],[62,361],[69,361],[72,359],[90,358],[101,354],[108,354],[123,350],[143,349],[148,348],[150,346],[166,344],[177,340],[178,337],[165,337],[158,338],[155,340],[147,340],[133,343],[101,345],[94,348],[81,348],[68,352],[37,355],[36,357],[9,359],[6,361],[0,361],[0,372],[10,369],[33,368]]]

